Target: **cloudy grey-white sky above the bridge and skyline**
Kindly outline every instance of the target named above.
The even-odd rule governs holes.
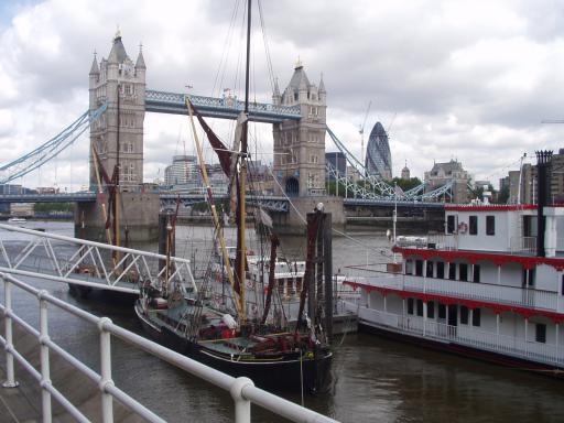
[[[371,102],[365,145],[382,122],[394,176],[405,162],[422,178],[454,159],[497,186],[523,153],[564,148],[564,124],[542,123],[564,119],[564,1],[261,0],[262,24],[257,9],[251,98],[270,101],[272,79],[284,89],[300,59],[312,83],[323,74],[327,126],[357,156]],[[133,62],[142,44],[149,89],[242,98],[242,15],[241,0],[0,1],[0,164],[88,108],[94,52],[107,57],[117,29]],[[229,122],[213,124],[231,138]],[[256,159],[270,162],[271,127],[251,132]],[[144,133],[145,182],[194,151],[184,117],[147,113]],[[85,134],[13,183],[76,189],[87,158]]]

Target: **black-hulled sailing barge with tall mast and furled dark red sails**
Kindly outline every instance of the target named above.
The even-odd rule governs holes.
[[[245,111],[238,118],[232,149],[219,140],[186,98],[192,131],[207,189],[215,247],[219,251],[232,295],[236,316],[214,310],[205,303],[206,283],[188,295],[176,280],[149,281],[141,288],[135,313],[144,328],[163,345],[235,377],[251,378],[261,388],[319,392],[330,381],[333,285],[330,262],[330,215],[319,205],[310,214],[307,260],[300,297],[297,323],[290,328],[269,316],[275,291],[278,238],[271,234],[270,278],[262,315],[248,316],[246,284],[249,264],[246,248],[246,184],[248,161],[250,1],[247,7],[247,68]],[[230,181],[231,210],[237,223],[236,258],[230,260],[207,177],[202,144],[194,123],[196,115]],[[317,257],[319,256],[319,257]],[[322,258],[325,258],[323,260]],[[171,269],[169,273],[173,273]],[[307,300],[307,316],[305,316]]]

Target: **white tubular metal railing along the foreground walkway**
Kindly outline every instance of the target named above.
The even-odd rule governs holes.
[[[37,381],[37,384],[41,388],[42,413],[43,421],[45,422],[51,422],[52,420],[52,399],[55,399],[55,401],[57,401],[58,404],[75,420],[79,422],[89,421],[83,411],[74,405],[62,393],[62,391],[53,384],[50,370],[50,354],[52,351],[58,355],[66,364],[75,368],[78,372],[90,379],[100,391],[100,421],[104,421],[105,423],[113,422],[113,400],[117,400],[149,422],[164,422],[162,417],[156,415],[154,412],[145,408],[139,401],[116,386],[116,381],[112,378],[111,368],[112,338],[120,339],[133,348],[149,352],[152,356],[158,357],[161,360],[164,360],[172,366],[186,371],[187,373],[194,375],[229,392],[234,399],[235,422],[237,423],[247,423],[251,421],[251,403],[294,422],[335,422],[333,419],[318,414],[315,411],[305,409],[301,405],[297,405],[293,402],[254,387],[252,380],[248,378],[234,378],[216,369],[204,366],[198,361],[172,351],[159,344],[155,344],[113,324],[108,317],[97,317],[88,312],[85,312],[84,310],[80,310],[48,294],[45,290],[37,290],[36,288],[31,286],[30,284],[18,280],[10,274],[0,273],[0,279],[3,282],[4,288],[4,303],[0,304],[0,311],[4,316],[4,337],[0,336],[0,345],[2,345],[6,351],[7,380],[3,383],[3,387],[10,388],[18,386],[15,380],[14,360],[18,361],[21,365],[21,368],[26,370],[33,377],[33,379]],[[39,328],[33,327],[31,324],[20,317],[17,311],[14,311],[13,307],[21,304],[19,301],[13,301],[12,290],[14,288],[35,296],[39,301]],[[98,328],[100,350],[99,373],[90,369],[88,366],[86,366],[84,362],[78,360],[75,356],[66,351],[63,347],[50,338],[50,319],[47,305],[55,306],[58,310],[67,312]],[[23,330],[37,338],[37,347],[40,348],[41,358],[39,370],[33,366],[33,364],[26,360],[22,351],[19,351],[15,348],[13,344],[14,323],[22,327]]]

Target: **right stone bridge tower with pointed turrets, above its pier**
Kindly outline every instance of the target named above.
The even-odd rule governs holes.
[[[325,193],[326,99],[323,76],[318,87],[310,83],[300,61],[282,95],[275,84],[273,104],[299,105],[302,115],[299,121],[285,120],[273,126],[274,175],[288,196]],[[282,194],[276,189],[276,194]]]

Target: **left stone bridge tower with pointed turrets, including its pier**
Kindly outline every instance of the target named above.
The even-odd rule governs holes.
[[[108,102],[106,112],[90,128],[90,145],[96,149],[100,165],[109,177],[118,165],[120,239],[130,241],[154,240],[159,236],[159,194],[143,189],[145,72],[141,46],[133,63],[118,31],[108,58],[98,64],[95,56],[88,75],[90,111]],[[90,189],[98,192],[94,163],[90,149]],[[101,200],[78,205],[75,215],[77,236],[106,240]]]

